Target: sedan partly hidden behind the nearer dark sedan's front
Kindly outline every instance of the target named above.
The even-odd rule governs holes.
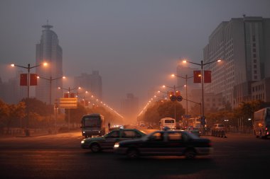
[[[99,152],[104,149],[113,149],[115,142],[126,139],[138,139],[146,133],[138,129],[114,129],[102,137],[89,137],[81,142],[82,149],[91,149],[92,152]]]

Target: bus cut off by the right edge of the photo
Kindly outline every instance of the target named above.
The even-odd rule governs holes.
[[[254,135],[269,137],[270,135],[270,108],[263,108],[254,112]]]

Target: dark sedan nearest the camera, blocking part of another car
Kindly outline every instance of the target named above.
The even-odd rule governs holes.
[[[180,130],[156,131],[141,139],[126,140],[114,144],[116,154],[129,158],[139,156],[185,156],[208,155],[212,152],[210,139]]]

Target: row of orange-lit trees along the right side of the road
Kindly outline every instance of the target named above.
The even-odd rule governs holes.
[[[232,109],[227,104],[223,110],[212,109],[205,112],[207,125],[212,126],[215,123],[225,123],[227,126],[238,127],[240,124],[246,127],[252,127],[253,113],[261,108],[270,106],[270,103],[265,103],[261,100],[251,100],[242,102],[238,108]],[[144,120],[149,123],[158,124],[163,117],[172,117],[175,120],[182,120],[185,114],[185,109],[179,102],[171,100],[158,100],[149,106],[143,115],[138,117],[138,120]],[[200,105],[193,105],[189,114],[192,117],[200,116]],[[251,120],[248,120],[251,119]]]

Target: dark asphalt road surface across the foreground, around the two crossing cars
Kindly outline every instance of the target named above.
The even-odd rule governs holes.
[[[259,178],[269,175],[270,139],[227,134],[210,156],[129,160],[112,150],[80,149],[80,132],[0,139],[1,178]]]

